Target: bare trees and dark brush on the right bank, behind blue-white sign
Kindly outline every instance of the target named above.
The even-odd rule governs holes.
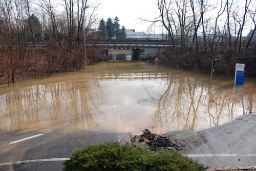
[[[157,5],[159,15],[144,21],[162,26],[172,42],[160,61],[209,71],[215,58],[219,73],[233,75],[235,63],[245,63],[246,75],[256,76],[254,1],[158,0]]]

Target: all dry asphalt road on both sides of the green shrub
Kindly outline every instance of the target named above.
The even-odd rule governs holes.
[[[168,135],[185,145],[182,154],[215,167],[256,166],[256,114],[198,132]],[[72,151],[110,140],[125,143],[129,134],[69,129],[32,132],[0,131],[0,170],[62,170]]]

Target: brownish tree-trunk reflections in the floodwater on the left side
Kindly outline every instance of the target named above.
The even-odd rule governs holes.
[[[91,128],[103,96],[99,81],[85,78],[19,88],[0,95],[0,129],[61,124]]]

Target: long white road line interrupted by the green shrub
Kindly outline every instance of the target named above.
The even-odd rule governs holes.
[[[256,154],[187,154],[183,155],[187,157],[256,157]],[[29,163],[29,162],[46,162],[46,161],[66,161],[70,160],[70,158],[53,158],[53,159],[37,159],[37,160],[23,160],[23,161],[14,161],[14,162],[6,162],[0,163],[0,166],[4,165],[12,165],[12,164],[21,164],[21,163]]]

